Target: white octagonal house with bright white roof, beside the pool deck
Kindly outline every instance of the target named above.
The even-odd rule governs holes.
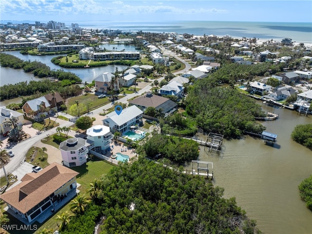
[[[88,148],[95,149],[95,151],[105,151],[109,149],[112,138],[112,133],[109,127],[103,125],[96,125],[87,129],[88,140],[92,141]]]

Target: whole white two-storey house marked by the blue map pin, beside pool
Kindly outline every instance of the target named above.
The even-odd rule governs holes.
[[[131,126],[140,125],[142,123],[143,111],[137,106],[129,106],[121,111],[119,115],[115,111],[107,114],[107,118],[103,119],[103,125],[110,128],[111,132],[124,132]]]

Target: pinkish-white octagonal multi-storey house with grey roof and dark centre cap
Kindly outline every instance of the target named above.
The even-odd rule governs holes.
[[[63,165],[77,167],[87,162],[88,147],[86,140],[80,137],[69,138],[59,144]]]

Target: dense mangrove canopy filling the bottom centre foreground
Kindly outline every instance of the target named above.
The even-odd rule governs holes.
[[[143,158],[113,168],[96,187],[62,234],[93,234],[101,215],[101,234],[260,233],[222,188]]]

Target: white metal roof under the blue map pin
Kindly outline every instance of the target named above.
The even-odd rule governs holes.
[[[111,119],[118,126],[121,126],[140,114],[143,114],[143,111],[140,110],[137,106],[129,106],[128,108],[123,109],[119,115],[117,115],[115,111],[107,114],[107,118],[103,121]]]

